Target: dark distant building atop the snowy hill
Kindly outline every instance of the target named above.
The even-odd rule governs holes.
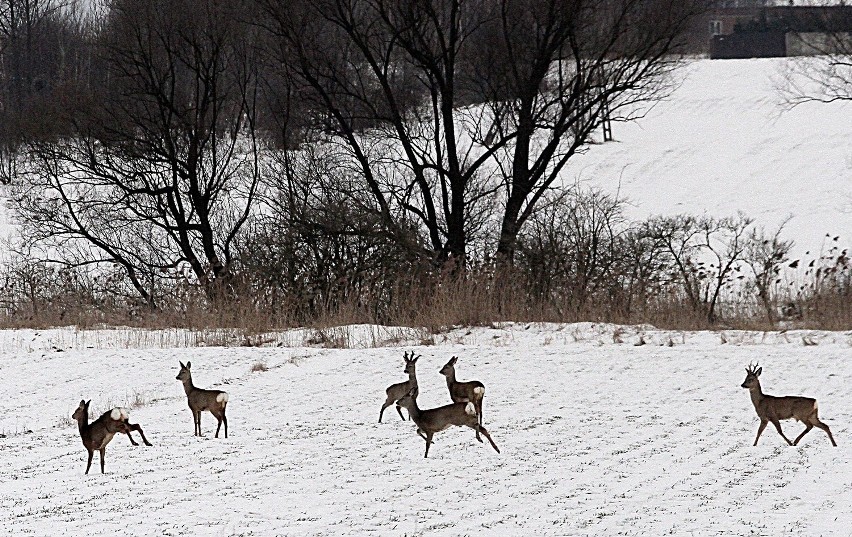
[[[852,6],[719,0],[691,44],[711,58],[806,56],[852,50]],[[702,46],[703,44],[703,46]],[[706,47],[706,48],[705,48]]]

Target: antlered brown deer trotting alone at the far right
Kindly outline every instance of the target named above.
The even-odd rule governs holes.
[[[760,380],[758,380],[762,372],[762,367],[758,367],[757,364],[749,364],[746,368],[746,379],[742,384],[743,388],[747,388],[751,392],[751,402],[754,403],[754,409],[760,418],[760,427],[757,429],[757,437],[754,439],[754,445],[757,445],[757,441],[760,439],[763,429],[766,428],[766,424],[772,422],[772,425],[778,430],[781,438],[791,446],[797,445],[802,437],[808,434],[811,429],[818,427],[828,434],[831,445],[837,447],[834,436],[831,434],[831,429],[828,428],[828,425],[821,422],[817,416],[816,399],[789,395],[786,397],[766,395],[761,391]],[[784,435],[784,431],[781,430],[781,424],[779,423],[779,420],[789,419],[795,419],[805,424],[805,430],[792,442]]]

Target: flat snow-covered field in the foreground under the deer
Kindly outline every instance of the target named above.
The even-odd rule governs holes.
[[[354,347],[374,339],[350,330]],[[508,324],[351,349],[14,334],[0,338],[3,535],[852,534],[852,332]],[[411,422],[389,408],[377,423],[404,350],[422,354],[423,407],[449,402],[438,369],[453,355],[485,383],[502,454],[453,428],[424,459]],[[230,393],[228,439],[210,414],[193,437],[179,360]],[[764,391],[818,399],[839,447],[817,429],[789,447],[772,427],[752,447],[740,384],[755,361]],[[83,475],[69,419],[83,397],[96,415],[139,403],[154,447],[116,436],[106,475]]]

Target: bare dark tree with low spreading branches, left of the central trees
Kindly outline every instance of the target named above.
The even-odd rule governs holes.
[[[57,247],[57,261],[118,264],[149,302],[157,278],[184,268],[216,293],[232,276],[262,150],[243,4],[109,7],[100,91],[73,111],[71,136],[32,144],[18,212],[30,239]]]

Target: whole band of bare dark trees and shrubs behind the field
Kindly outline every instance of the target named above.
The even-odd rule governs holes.
[[[677,303],[716,322],[733,269],[697,268],[685,244],[737,250],[750,222],[616,225],[617,200],[560,176],[604,123],[666,94],[704,8],[5,1],[0,160],[20,230],[5,310],[444,325]]]

